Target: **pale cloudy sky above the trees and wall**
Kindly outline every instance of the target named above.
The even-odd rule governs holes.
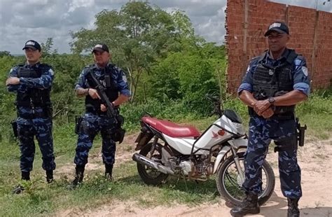
[[[25,41],[46,42],[53,38],[53,49],[70,52],[70,31],[91,29],[95,14],[103,9],[118,10],[128,0],[0,0],[0,50],[21,54]],[[230,0],[232,1],[232,0]],[[332,2],[318,10],[332,11]],[[149,0],[168,12],[184,10],[193,22],[196,34],[207,41],[222,44],[225,36],[226,0]],[[314,0],[275,0],[296,6],[315,8]]]

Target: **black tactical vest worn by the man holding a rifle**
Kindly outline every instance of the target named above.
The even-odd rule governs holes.
[[[88,72],[92,71],[92,74],[95,74],[94,71],[97,69],[95,64],[92,64],[88,67]],[[110,102],[113,102],[118,98],[118,92],[120,91],[118,84],[113,80],[112,73],[115,73],[114,66],[112,64],[108,64],[104,71],[104,78],[99,79],[100,83],[106,87],[106,96],[109,98]],[[90,73],[87,73],[88,87],[95,89],[97,84],[95,84],[94,80],[91,77]],[[85,97],[85,111],[95,114],[106,114],[106,112],[102,112],[100,110],[100,104],[102,101],[100,99],[92,99],[90,95]]]

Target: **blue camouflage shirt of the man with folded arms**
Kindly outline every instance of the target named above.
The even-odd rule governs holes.
[[[41,69],[41,77],[40,78],[20,78],[20,83],[18,85],[8,85],[8,91],[9,92],[26,92],[29,89],[36,88],[36,89],[47,89],[52,86],[53,79],[54,79],[54,71],[51,66],[48,64],[41,64],[40,62],[37,62],[34,65],[25,64],[22,66],[27,69]],[[18,77],[18,69],[20,68],[20,65],[14,66],[11,71],[9,71],[9,77]],[[18,112],[22,114],[33,114],[33,113],[41,113],[43,112],[43,109],[41,107],[34,108],[34,111],[32,108],[29,107],[23,107],[18,106]],[[19,124],[39,124],[39,123],[45,123],[46,120],[49,118],[34,118],[34,119],[25,119],[25,118],[18,118]]]

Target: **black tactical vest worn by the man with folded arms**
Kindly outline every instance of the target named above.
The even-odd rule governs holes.
[[[18,65],[18,78],[40,78],[42,70],[47,66],[47,64],[39,64],[39,68],[34,67],[33,69],[29,69],[26,68],[24,64],[20,64]],[[43,114],[41,114],[41,117],[50,117],[50,90],[51,87],[43,90],[37,88],[28,88],[28,90],[25,92],[18,92],[15,104],[16,106],[29,107],[33,111],[34,108],[41,107],[43,109]]]

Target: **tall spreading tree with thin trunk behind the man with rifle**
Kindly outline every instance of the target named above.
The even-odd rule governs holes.
[[[102,10],[96,15],[96,28],[71,33],[74,52],[89,51],[99,42],[110,46],[113,62],[129,76],[134,100],[141,74],[148,72],[156,59],[179,50],[182,38],[193,40],[193,27],[184,13],[170,14],[147,2],[128,2],[119,11]]]

